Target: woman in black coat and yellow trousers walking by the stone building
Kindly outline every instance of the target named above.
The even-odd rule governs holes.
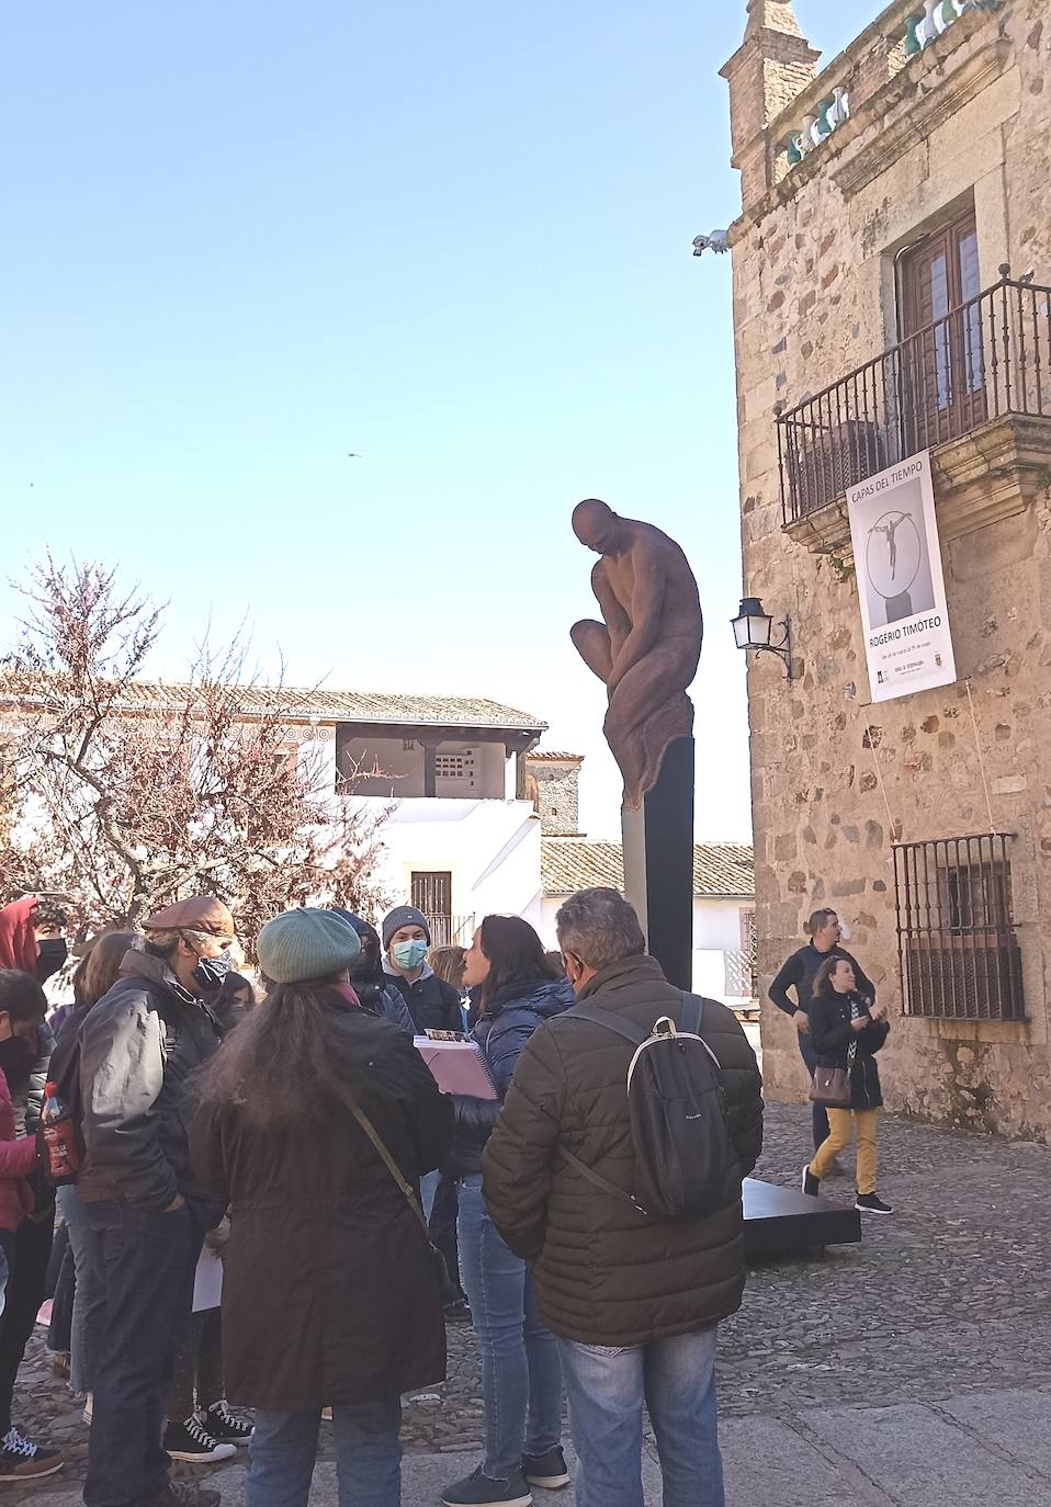
[[[802,1191],[814,1197],[820,1180],[838,1153],[858,1133],[858,1197],[855,1209],[870,1215],[891,1215],[894,1210],[876,1192],[876,1121],[884,1096],[879,1087],[876,1052],[881,1050],[890,1025],[887,1007],[875,1005],[858,992],[853,964],[844,957],[829,957],[814,980],[814,998],[807,1010],[810,1041],[822,1067],[838,1067],[847,1073],[850,1108],[828,1111],[828,1139],[814,1160],[802,1169]]]

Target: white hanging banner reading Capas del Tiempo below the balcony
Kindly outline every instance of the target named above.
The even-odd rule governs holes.
[[[956,680],[930,452],[847,491],[873,701]]]

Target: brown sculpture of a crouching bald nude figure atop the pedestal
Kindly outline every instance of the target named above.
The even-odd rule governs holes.
[[[670,743],[694,731],[686,695],[701,657],[701,601],[689,562],[650,523],[620,518],[597,497],[573,509],[573,532],[602,559],[591,571],[603,622],[576,622],[570,637],[609,690],[605,734],[638,811]]]

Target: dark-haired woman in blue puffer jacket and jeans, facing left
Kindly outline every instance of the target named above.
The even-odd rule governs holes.
[[[568,1484],[562,1454],[562,1368],[555,1337],[537,1308],[532,1276],[496,1233],[481,1192],[481,1153],[496,1124],[519,1056],[532,1032],[573,1004],[540,937],[519,916],[486,916],[467,951],[463,981],[481,990],[472,1031],[486,1053],[498,1100],[455,1096],[449,1171],[460,1180],[460,1261],[481,1347],[486,1457],[449,1486],[446,1507],[529,1501],[531,1486]]]

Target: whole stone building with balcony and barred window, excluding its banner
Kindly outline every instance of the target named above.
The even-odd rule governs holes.
[[[730,232],[760,984],[819,904],[891,1004],[888,1105],[1051,1136],[1051,6],[905,0],[831,65],[751,0]],[[932,457],[958,680],[872,702],[844,496]],[[768,1090],[802,1097],[763,1013]]]

